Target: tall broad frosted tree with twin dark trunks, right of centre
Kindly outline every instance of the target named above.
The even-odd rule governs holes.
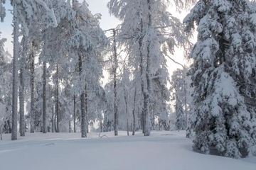
[[[174,3],[178,8],[183,6],[181,1]],[[110,13],[122,21],[119,41],[125,46],[132,69],[136,71],[133,77],[140,81],[136,86],[141,85],[137,88],[140,89],[138,94],[144,98],[137,102],[143,103],[142,129],[146,136],[150,135],[152,76],[165,67],[164,55],[173,53],[174,47],[183,45],[186,40],[181,22],[167,11],[168,5],[167,0],[111,0],[108,4]],[[166,74],[159,77],[166,79]]]

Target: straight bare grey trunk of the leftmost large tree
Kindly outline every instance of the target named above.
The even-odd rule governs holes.
[[[17,140],[18,120],[18,11],[14,2],[14,61],[13,61],[13,91],[12,91],[12,113],[11,113],[11,140]]]

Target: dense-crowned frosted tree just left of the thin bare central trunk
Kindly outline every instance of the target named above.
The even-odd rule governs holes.
[[[102,76],[103,47],[107,45],[105,33],[100,28],[100,14],[92,15],[86,1],[82,4],[73,1],[76,13],[76,25],[73,35],[67,41],[67,47],[78,64],[79,77],[74,81],[73,88],[80,94],[81,101],[81,132],[82,137],[87,137],[87,93],[90,86],[98,86]],[[86,102],[86,103],[85,103]]]

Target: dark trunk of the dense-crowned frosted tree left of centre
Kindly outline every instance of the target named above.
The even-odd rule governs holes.
[[[81,77],[82,76],[82,56],[81,55],[79,55],[79,74]],[[82,137],[87,137],[86,113],[85,113],[85,90],[83,90],[82,94],[80,94],[80,101],[81,101],[81,133],[82,133]]]

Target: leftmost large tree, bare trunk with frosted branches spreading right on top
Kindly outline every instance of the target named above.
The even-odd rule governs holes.
[[[24,3],[23,3],[24,1]],[[53,10],[49,9],[44,1],[23,0],[11,1],[14,6],[14,61],[13,61],[13,94],[12,94],[12,132],[11,140],[17,140],[17,105],[18,105],[18,57],[19,57],[19,24],[25,36],[28,35],[29,27],[33,19],[39,19],[46,28],[56,26]],[[28,10],[30,9],[30,10]]]

